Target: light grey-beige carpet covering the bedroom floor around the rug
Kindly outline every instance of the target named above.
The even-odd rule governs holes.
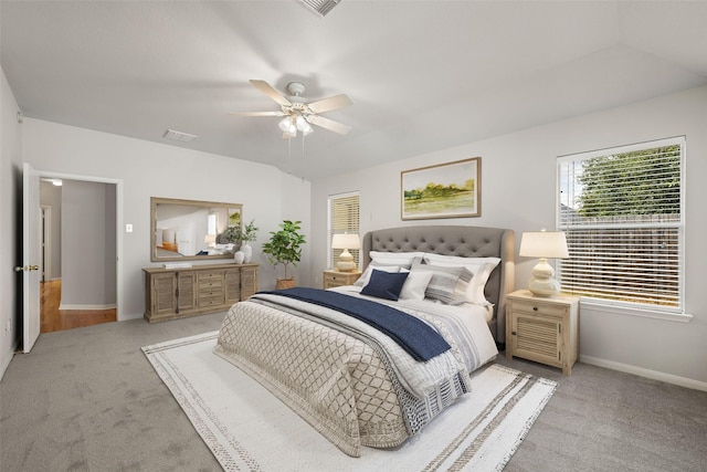
[[[222,470],[140,348],[219,329],[224,316],[40,335],[0,381],[0,470]],[[495,363],[558,382],[504,472],[705,472],[706,391],[582,363],[569,377]]]

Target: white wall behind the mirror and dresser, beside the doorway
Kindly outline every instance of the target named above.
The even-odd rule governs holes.
[[[255,219],[260,228],[253,262],[262,264],[261,289],[275,285],[274,272],[260,251],[268,232],[293,214],[309,220],[309,185],[272,166],[38,119],[27,118],[23,126],[23,158],[40,172],[120,182],[122,221],[134,228],[131,233],[123,225],[118,230],[122,319],[143,316],[141,269],[159,266],[150,262],[150,197],[243,203],[244,221]],[[285,195],[286,190],[292,193]]]

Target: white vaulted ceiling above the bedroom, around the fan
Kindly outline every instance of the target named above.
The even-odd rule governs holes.
[[[707,83],[707,1],[0,2],[22,113],[316,180]],[[282,138],[284,95],[352,126]],[[198,138],[165,138],[175,129]],[[146,157],[146,158],[149,158]]]

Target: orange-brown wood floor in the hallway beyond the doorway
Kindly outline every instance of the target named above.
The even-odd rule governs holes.
[[[115,308],[59,310],[62,301],[61,281],[42,282],[40,291],[40,333],[52,333],[116,321]]]

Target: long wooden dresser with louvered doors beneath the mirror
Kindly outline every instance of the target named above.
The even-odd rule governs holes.
[[[145,318],[150,322],[222,312],[257,292],[258,264],[147,268]]]

